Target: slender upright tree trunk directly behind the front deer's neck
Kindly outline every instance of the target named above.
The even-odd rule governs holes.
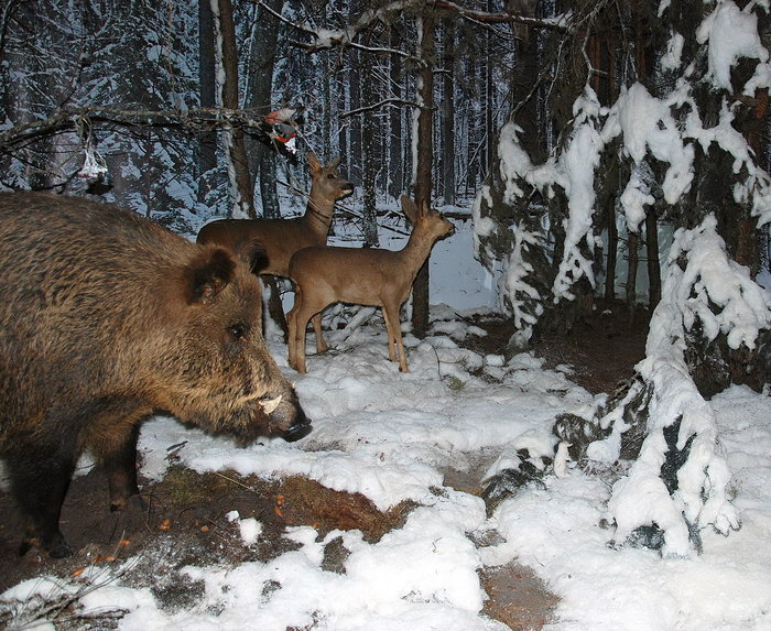
[[[431,206],[431,168],[434,160],[433,109],[434,68],[431,64],[434,54],[434,22],[430,15],[420,20],[422,63],[417,100],[421,110],[417,116],[417,164],[415,165],[415,204]],[[428,330],[428,259],[417,272],[412,290],[412,333],[425,337]]]

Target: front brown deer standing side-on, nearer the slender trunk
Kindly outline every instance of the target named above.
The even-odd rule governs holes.
[[[402,195],[402,210],[412,224],[412,233],[400,251],[360,248],[305,248],[290,262],[295,286],[294,306],[286,314],[289,363],[297,372],[305,368],[305,329],[308,319],[333,303],[351,303],[382,308],[388,330],[391,361],[399,357],[399,370],[409,372],[399,312],[410,295],[417,271],[434,243],[454,231],[437,210]],[[317,334],[318,335],[318,334]],[[326,349],[317,347],[317,351]]]

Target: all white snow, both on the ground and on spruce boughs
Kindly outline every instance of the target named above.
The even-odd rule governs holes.
[[[216,2],[213,2],[216,7]],[[671,2],[660,3],[663,14]],[[757,33],[756,10],[740,10],[731,0],[715,3],[699,25],[698,41],[707,46],[706,78],[716,90],[754,95],[771,83],[769,54]],[[326,44],[326,36],[319,39]],[[734,156],[738,181],[734,197],[751,207],[758,225],[771,221],[771,181],[753,160],[745,139],[731,126],[734,110],[726,100],[717,124],[701,119],[688,84],[694,66],[683,68],[683,36],[673,32],[662,67],[682,73],[670,94],[656,98],[641,84],[623,89],[610,108],[599,107],[587,88],[574,108],[574,127],[558,155],[532,164],[518,141],[513,123],[501,132],[501,178],[511,203],[528,183],[547,197],[558,186],[569,209],[565,222],[565,260],[552,287],[553,298],[571,298],[571,286],[586,278],[594,284],[591,253],[596,244],[593,214],[594,178],[600,153],[620,138],[623,155],[633,163],[621,209],[630,229],[639,226],[653,199],[640,168],[649,156],[667,165],[661,191],[676,204],[694,178],[694,146],[716,143]],[[740,58],[758,61],[743,86],[731,86],[731,68]],[[683,106],[691,106],[683,108]],[[685,119],[673,111],[689,109]],[[406,523],[369,543],[358,531],[328,533],[321,541],[312,526],[292,529],[298,550],[270,562],[237,567],[188,566],[184,573],[203,581],[199,602],[185,611],[167,611],[148,589],[107,580],[104,572],[73,581],[40,577],[0,595],[0,601],[24,603],[76,595],[86,611],[121,609],[120,629],[276,629],[313,628],[406,631],[500,630],[503,625],[480,613],[486,594],[479,570],[517,561],[530,567],[560,597],[547,629],[702,630],[771,629],[771,396],[734,385],[704,400],[682,360],[682,336],[698,323],[708,339],[727,336],[731,348],[752,348],[757,333],[769,327],[768,291],[749,282],[747,271],[726,254],[707,217],[702,226],[675,236],[674,254],[665,270],[663,300],[651,323],[648,357],[638,367],[654,384],[649,433],[638,460],[611,480],[580,470],[566,444],[552,433],[561,413],[582,414],[596,407],[594,398],[569,381],[568,370],[546,370],[537,358],[522,353],[509,361],[501,355],[482,357],[454,340],[469,334],[458,313],[484,311],[495,302],[495,283],[471,259],[485,237],[499,229],[480,205],[490,200],[482,188],[474,206],[474,231],[460,221],[456,236],[437,244],[432,259],[432,297],[437,305],[432,334],[424,340],[405,335],[411,372],[401,374],[388,361],[382,320],[372,311],[359,312],[356,326],[328,334],[332,351],[308,357],[308,373],[286,366],[286,348],[270,337],[282,369],[296,382],[298,396],[314,420],[314,431],[298,443],[264,440],[236,448],[156,417],[142,429],[142,472],[161,478],[167,450],[177,447],[182,464],[198,471],[235,470],[265,477],[301,475],[340,491],[360,492],[387,510],[404,500],[419,504]],[[536,246],[524,228],[517,248]],[[687,265],[675,263],[687,252]],[[528,284],[521,252],[512,252],[498,270],[499,286],[511,295],[525,324],[528,312],[517,295],[540,296]],[[498,281],[497,281],[498,282]],[[481,289],[480,289],[481,287]],[[517,294],[517,292],[520,292]],[[678,293],[680,292],[680,293]],[[719,308],[706,308],[712,304]],[[715,311],[718,311],[716,314]],[[535,312],[530,312],[535,313]],[[406,327],[409,328],[409,327]],[[671,496],[660,478],[666,449],[663,431],[681,418],[678,446],[696,438],[691,457],[677,475]],[[619,454],[619,417],[605,440],[589,455],[610,465]],[[445,486],[445,471],[474,471],[489,478],[517,467],[518,449],[557,454],[556,467],[545,470],[543,487],[525,487],[502,501],[491,516],[480,498]],[[491,464],[482,474],[479,459]],[[684,519],[702,527],[703,552],[692,554]],[[253,545],[262,524],[231,513],[245,546]],[[616,530],[605,527],[615,520]],[[664,531],[663,554],[610,545],[642,523],[654,521]],[[740,530],[738,529],[741,525]],[[499,543],[485,536],[491,532]],[[728,536],[726,536],[728,534]],[[341,537],[350,552],[345,574],[322,567],[324,546]],[[129,559],[127,564],[135,563]]]

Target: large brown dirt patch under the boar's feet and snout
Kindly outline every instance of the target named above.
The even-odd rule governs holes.
[[[365,496],[333,491],[305,478],[202,475],[181,466],[172,466],[163,480],[143,485],[142,499],[143,509],[110,513],[105,476],[95,470],[75,478],[61,525],[77,552],[52,559],[39,551],[17,555],[18,512],[10,496],[0,493],[0,592],[26,578],[77,577],[90,566],[117,568],[135,557],[138,562],[121,580],[149,587],[167,611],[184,610],[203,590],[203,585],[180,573],[187,565],[270,561],[300,547],[285,536],[286,527],[295,525],[312,525],[319,538],[336,529],[359,530],[366,541],[377,542],[403,525],[413,508],[405,502],[383,512]],[[246,545],[239,520],[250,518],[260,522],[262,532],[256,544]],[[346,556],[341,540],[333,540],[325,550],[324,569],[343,572]],[[56,620],[57,629],[110,629],[117,624],[112,614],[84,620],[69,607],[62,608]],[[7,622],[0,609],[0,629]]]

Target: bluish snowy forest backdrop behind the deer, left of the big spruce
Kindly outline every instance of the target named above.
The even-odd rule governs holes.
[[[280,214],[278,195],[305,165],[263,122],[291,108],[301,153],[341,155],[359,184],[372,244],[377,200],[397,199],[414,179],[424,61],[433,194],[448,204],[473,196],[489,171],[521,74],[524,35],[502,7],[475,15],[421,2],[373,11],[372,2],[224,1],[215,15],[209,2],[39,4],[4,2],[3,185],[152,206],[183,231],[195,226],[165,216],[193,203],[198,213]],[[423,19],[432,43],[422,53]],[[248,165],[240,185],[256,189],[245,208],[226,202],[228,164],[240,160],[227,154],[231,134]]]

